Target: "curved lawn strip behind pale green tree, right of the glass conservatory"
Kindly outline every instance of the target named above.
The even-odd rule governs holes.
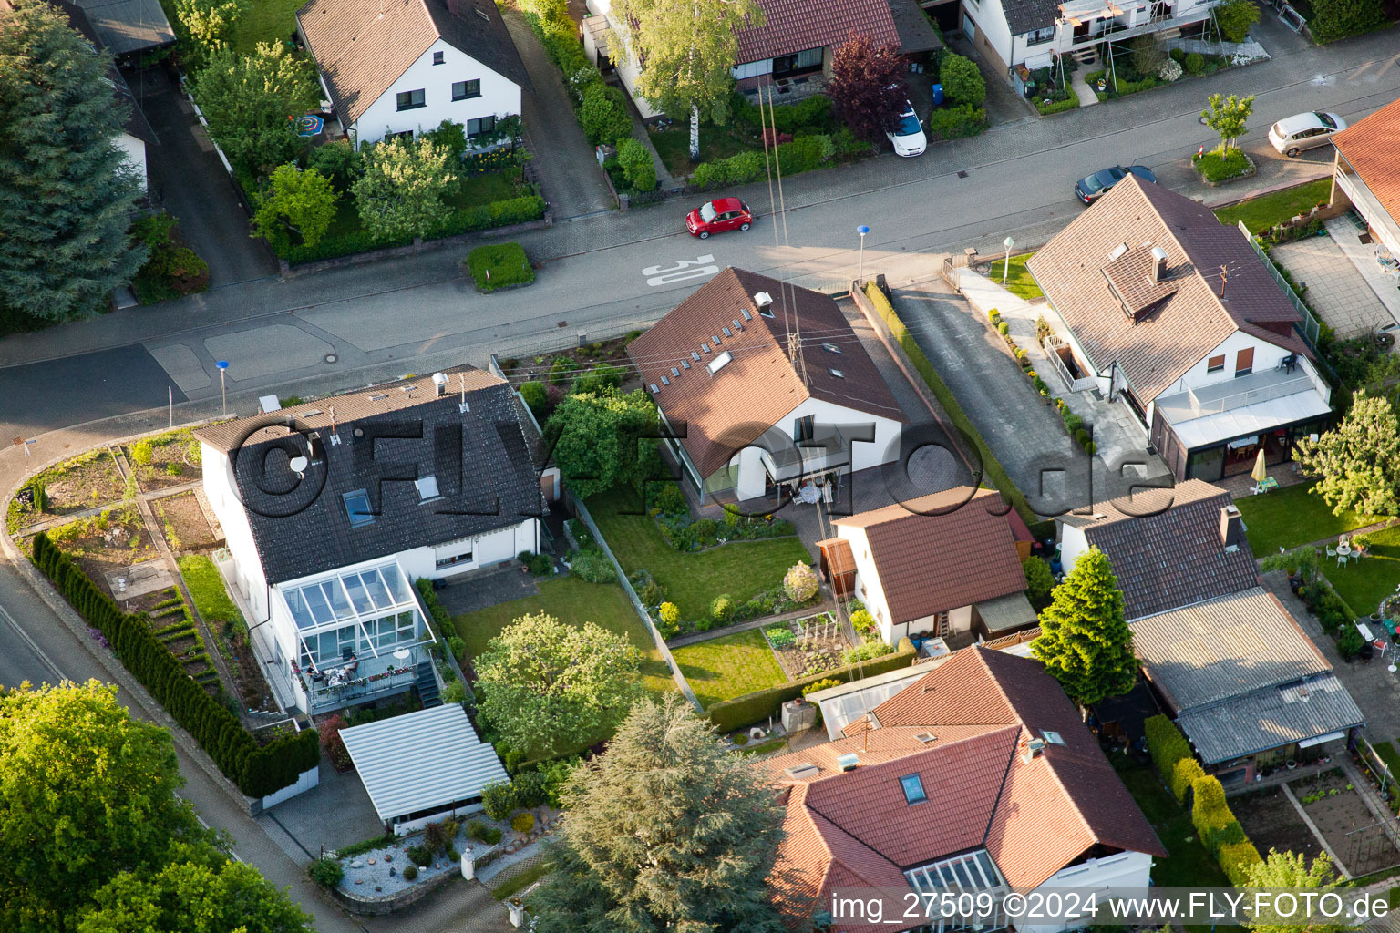
[[[676,688],[671,667],[662,660],[651,634],[627,601],[627,594],[616,583],[589,583],[577,576],[545,581],[539,596],[500,603],[465,615],[456,615],[456,634],[466,642],[466,653],[475,657],[512,620],[529,613],[549,613],[563,622],[598,622],[610,632],[620,632],[643,653],[641,684],[648,691],[665,692]]]

